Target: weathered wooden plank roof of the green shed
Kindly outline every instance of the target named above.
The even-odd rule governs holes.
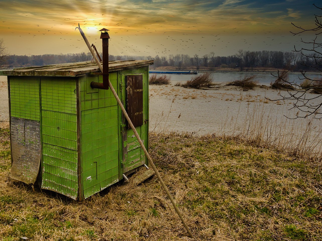
[[[109,71],[144,67],[153,64],[153,60],[124,60],[109,61]],[[62,76],[76,77],[90,72],[99,72],[99,67],[91,61],[46,65],[39,67],[21,67],[0,71],[0,75],[6,76]]]

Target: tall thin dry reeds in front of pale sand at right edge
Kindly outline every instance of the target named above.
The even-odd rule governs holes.
[[[294,116],[298,113],[295,110],[285,110],[286,113],[282,110],[280,115],[284,114],[285,118],[279,118],[273,105],[266,105],[269,102],[265,97],[256,96],[246,102],[253,102],[248,105],[246,116],[239,118],[238,111],[236,118],[228,120],[227,113],[220,135],[244,139],[292,155],[322,160],[322,128],[319,120],[314,117],[296,120]],[[276,104],[283,105],[279,101]]]

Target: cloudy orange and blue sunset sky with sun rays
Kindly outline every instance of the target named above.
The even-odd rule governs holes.
[[[88,53],[80,24],[100,52],[109,29],[109,54],[199,57],[244,51],[291,51],[313,34],[313,3],[303,0],[0,0],[0,39],[10,54]],[[321,7],[321,6],[319,6]]]

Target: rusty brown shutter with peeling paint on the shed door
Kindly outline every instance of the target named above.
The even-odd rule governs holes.
[[[126,76],[127,112],[134,127],[143,125],[143,76]]]

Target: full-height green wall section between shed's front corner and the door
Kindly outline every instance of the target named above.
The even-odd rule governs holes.
[[[117,73],[109,79],[117,89]],[[87,198],[118,182],[118,105],[110,90],[92,89],[102,76],[81,78],[81,165]]]

